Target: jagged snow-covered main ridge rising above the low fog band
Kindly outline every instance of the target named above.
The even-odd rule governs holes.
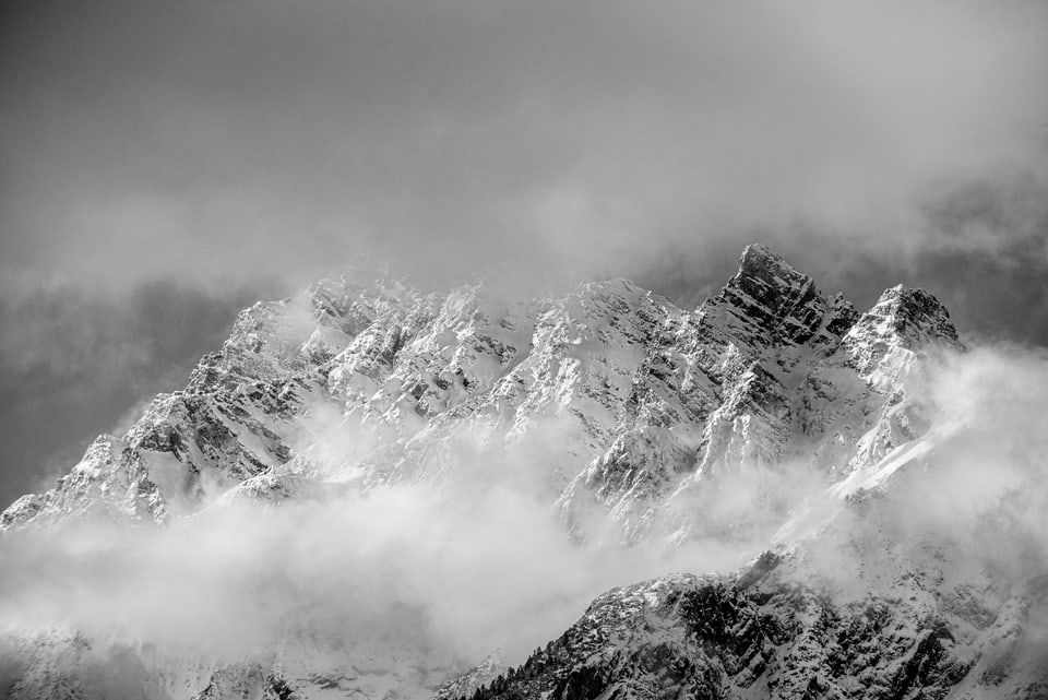
[[[471,443],[545,464],[537,488],[559,494],[573,526],[596,502],[627,541],[652,527],[680,538],[693,491],[715,490],[701,482],[809,452],[849,471],[883,450],[898,429],[886,404],[910,348],[929,343],[956,332],[927,293],[890,289],[858,318],[760,246],[693,313],[624,281],[524,301],[480,284],[440,296],[327,281],[245,311],[186,390],[158,396],[121,438],[100,437],[2,522],[99,507],[164,522],[260,475],[274,493],[282,475],[440,478]],[[325,449],[319,412],[358,447]],[[859,440],[873,426],[884,435]],[[550,435],[556,450],[544,449]],[[667,499],[678,517],[658,522]]]

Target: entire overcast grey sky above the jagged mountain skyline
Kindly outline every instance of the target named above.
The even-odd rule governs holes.
[[[0,503],[358,253],[1048,344],[1048,3],[0,3]]]

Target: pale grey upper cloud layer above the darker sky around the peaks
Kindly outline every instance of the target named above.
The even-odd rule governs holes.
[[[1012,169],[1043,187],[1045,20],[978,1],[21,8],[5,258],[120,284],[367,250],[446,282],[503,259],[638,274],[664,245],[701,258],[795,226],[919,248],[929,188]]]

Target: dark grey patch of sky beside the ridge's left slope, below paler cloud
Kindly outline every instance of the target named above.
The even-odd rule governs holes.
[[[71,286],[0,298],[0,502],[67,473],[132,405],[184,385],[259,288],[223,295],[169,282],[127,295]],[[49,487],[50,485],[46,485]]]

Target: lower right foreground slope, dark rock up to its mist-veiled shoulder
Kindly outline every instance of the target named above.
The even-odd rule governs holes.
[[[906,480],[893,488],[918,486]],[[943,530],[883,483],[841,506],[818,537],[738,573],[608,591],[520,667],[438,697],[1048,697],[1043,553],[1000,551],[1019,533],[986,532],[1023,507]]]

